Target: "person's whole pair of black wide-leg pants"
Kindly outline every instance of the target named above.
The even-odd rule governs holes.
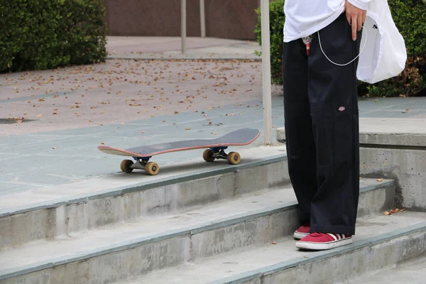
[[[320,31],[324,53],[338,64],[359,54],[361,32],[351,39],[342,13]],[[310,231],[355,234],[359,200],[358,60],[329,62],[318,35],[310,54],[302,39],[284,43],[285,139],[290,180],[301,221]]]

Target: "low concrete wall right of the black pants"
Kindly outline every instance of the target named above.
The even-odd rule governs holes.
[[[426,135],[361,133],[361,175],[396,181],[396,204],[426,212]]]

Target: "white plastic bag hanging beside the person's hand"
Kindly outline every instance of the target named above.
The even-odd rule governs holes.
[[[368,4],[356,77],[370,84],[398,76],[405,68],[407,50],[403,35],[393,22],[387,0],[372,0]],[[365,41],[367,40],[367,41]]]

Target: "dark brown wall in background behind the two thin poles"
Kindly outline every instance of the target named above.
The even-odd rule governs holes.
[[[109,35],[180,36],[180,0],[104,0]],[[206,35],[255,40],[260,0],[205,0]],[[200,1],[187,0],[187,35],[198,37]]]

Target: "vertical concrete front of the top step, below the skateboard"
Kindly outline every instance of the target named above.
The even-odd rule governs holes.
[[[148,184],[136,183],[90,196],[49,202],[25,211],[10,211],[0,217],[0,228],[4,228],[0,251],[288,184],[286,157],[275,155],[237,166],[198,170],[170,180],[161,178]],[[27,228],[26,234],[21,234],[21,228]]]

